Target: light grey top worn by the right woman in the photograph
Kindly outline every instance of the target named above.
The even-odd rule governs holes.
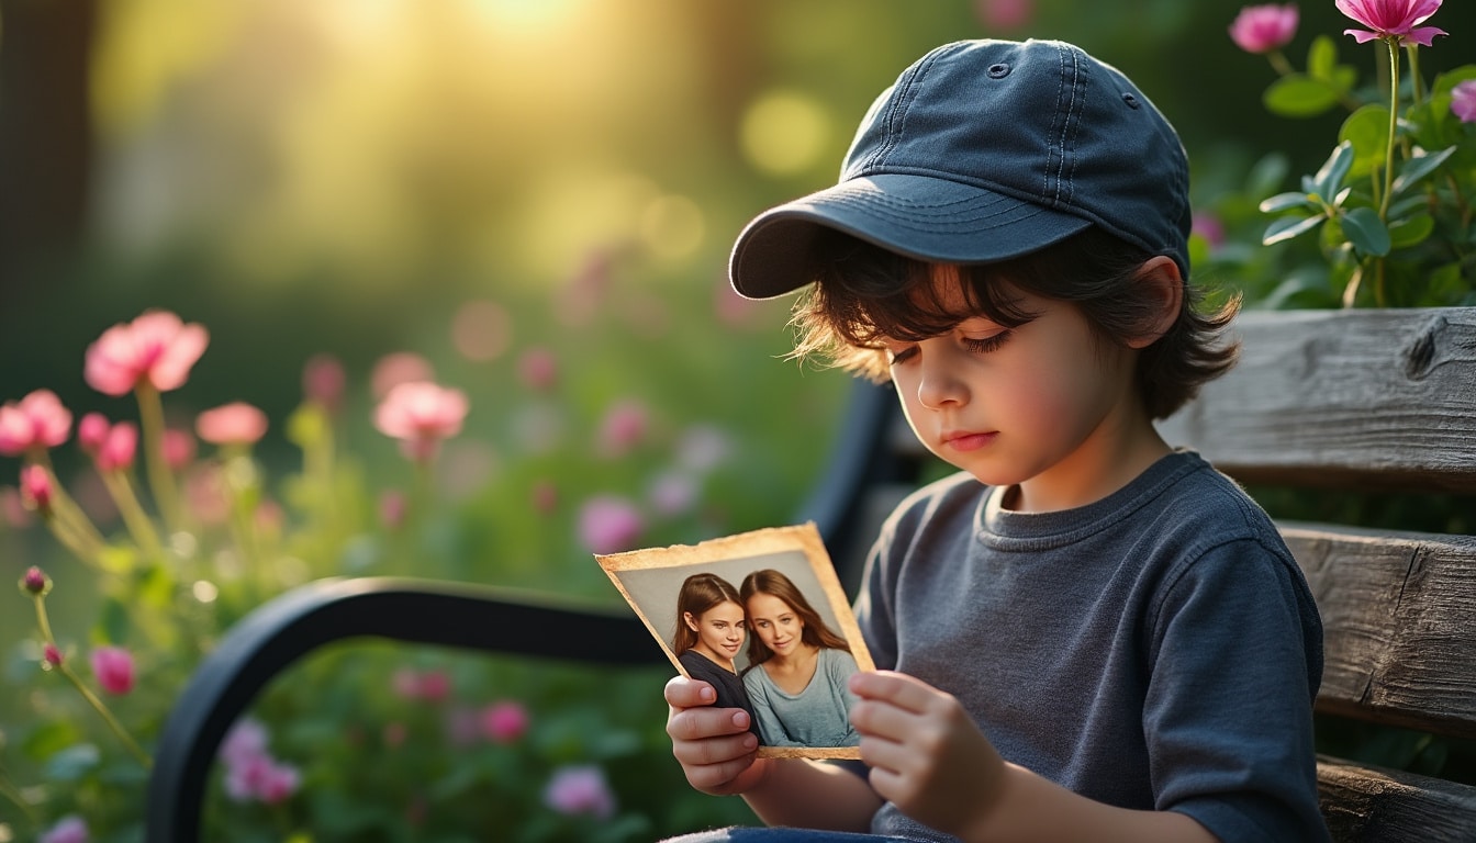
[[[853,747],[861,735],[850,725],[855,694],[846,685],[856,672],[856,658],[844,650],[822,647],[815,676],[799,694],[790,694],[756,664],[744,672],[759,735],[770,747]]]

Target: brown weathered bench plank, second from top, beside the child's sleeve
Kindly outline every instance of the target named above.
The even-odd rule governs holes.
[[[1476,537],[1280,527],[1322,616],[1318,709],[1476,737]]]

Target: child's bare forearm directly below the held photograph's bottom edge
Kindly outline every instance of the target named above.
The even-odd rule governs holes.
[[[868,831],[881,797],[841,766],[804,759],[769,759],[763,780],[744,800],[768,825]]]

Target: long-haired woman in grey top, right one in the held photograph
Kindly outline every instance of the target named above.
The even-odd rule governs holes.
[[[776,570],[748,574],[741,593],[753,633],[744,687],[765,746],[858,746],[849,716],[856,697],[846,687],[856,658],[846,639]]]

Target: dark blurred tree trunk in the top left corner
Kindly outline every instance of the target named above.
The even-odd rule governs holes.
[[[0,309],[83,238],[96,19],[97,0],[0,0]]]

